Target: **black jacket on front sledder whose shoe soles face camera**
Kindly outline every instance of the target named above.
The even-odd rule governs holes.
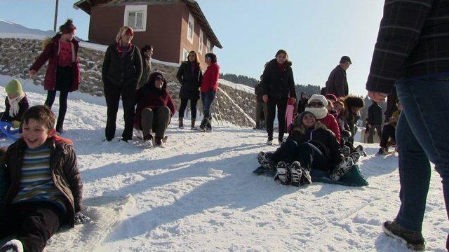
[[[332,171],[342,162],[344,156],[340,144],[335,138],[335,134],[328,129],[318,128],[316,130],[308,130],[306,134],[299,131],[293,131],[287,138],[287,141],[296,141],[297,144],[309,142],[319,148],[323,155],[328,158],[328,169]]]

